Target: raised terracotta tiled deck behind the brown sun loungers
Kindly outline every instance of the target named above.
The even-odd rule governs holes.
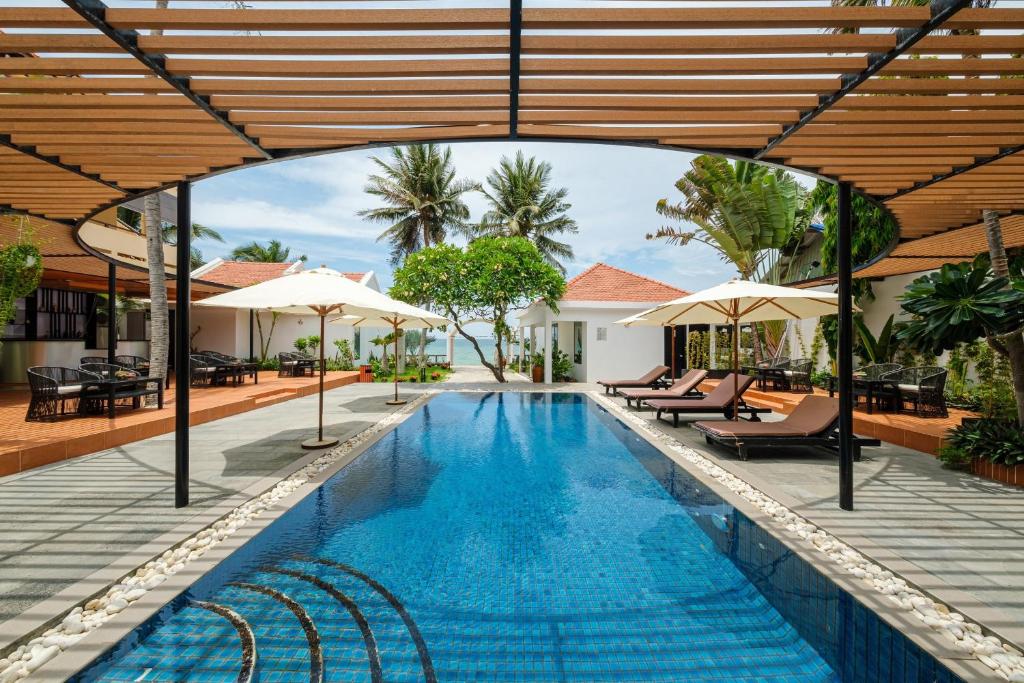
[[[706,382],[714,386],[717,382]],[[814,393],[826,396],[824,389],[814,389]],[[776,413],[788,415],[801,398],[807,394],[788,391],[760,391],[748,389],[743,397],[752,405],[770,408]],[[933,456],[938,455],[946,432],[959,425],[964,418],[975,417],[974,413],[949,409],[947,418],[919,418],[914,415],[879,413],[868,415],[860,403],[853,412],[853,430],[861,436],[882,439],[887,443],[902,445]]]

